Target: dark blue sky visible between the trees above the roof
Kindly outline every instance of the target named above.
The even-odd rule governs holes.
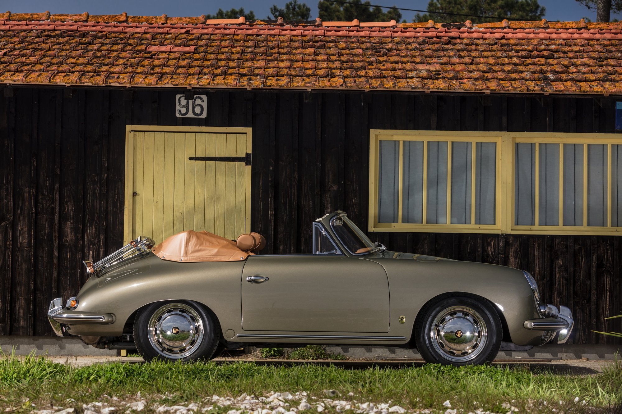
[[[300,1],[300,0],[299,0]],[[134,16],[158,16],[167,14],[168,16],[200,16],[202,14],[213,14],[219,7],[231,9],[231,7],[244,7],[246,10],[253,10],[255,15],[261,18],[268,16],[270,6],[278,4],[283,6],[287,0],[230,0],[222,1],[199,1],[199,0],[4,0],[2,1],[2,12],[11,11],[14,13],[24,12],[43,12],[49,10],[52,13],[83,13],[90,14],[119,14],[127,12]],[[317,17],[317,0],[302,0],[311,7],[312,17]],[[546,7],[545,19],[555,21],[573,21],[581,17],[590,17],[596,20],[596,12],[590,12],[582,7],[575,0],[540,0],[542,6]],[[379,4],[409,9],[425,9],[428,0],[374,0],[371,4]],[[402,11],[402,16],[408,21],[412,20],[415,12]],[[622,20],[622,14],[611,15]]]

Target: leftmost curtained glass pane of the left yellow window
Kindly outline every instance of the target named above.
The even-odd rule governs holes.
[[[378,155],[378,223],[397,223],[399,141],[381,140]]]

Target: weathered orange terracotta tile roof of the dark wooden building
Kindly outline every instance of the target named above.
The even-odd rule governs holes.
[[[622,92],[622,24],[0,14],[0,82]]]

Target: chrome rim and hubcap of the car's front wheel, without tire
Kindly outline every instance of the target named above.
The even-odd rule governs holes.
[[[488,329],[480,314],[472,308],[451,306],[435,316],[430,339],[434,349],[446,359],[468,362],[486,347]]]

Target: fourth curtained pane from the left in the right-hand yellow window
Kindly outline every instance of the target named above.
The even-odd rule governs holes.
[[[607,145],[588,145],[587,225],[607,225]]]

